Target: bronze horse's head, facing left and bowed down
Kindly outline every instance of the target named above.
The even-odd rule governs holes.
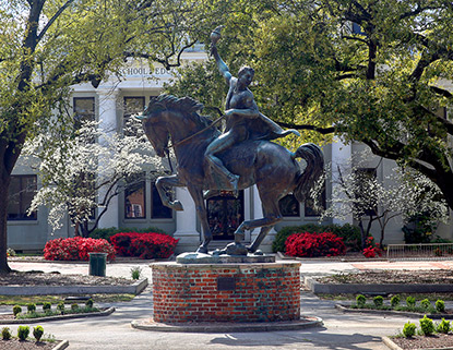
[[[165,120],[165,111],[166,107],[152,97],[143,114],[136,117],[142,121],[146,137],[159,157],[165,157],[168,149],[169,132]]]

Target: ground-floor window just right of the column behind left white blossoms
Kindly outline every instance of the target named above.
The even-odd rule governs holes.
[[[146,182],[144,173],[131,176],[124,190],[124,218],[143,219],[146,217]]]

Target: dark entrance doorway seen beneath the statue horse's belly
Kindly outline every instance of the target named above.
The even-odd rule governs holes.
[[[243,221],[243,191],[239,191],[237,198],[229,191],[208,198],[206,208],[213,239],[231,240]]]

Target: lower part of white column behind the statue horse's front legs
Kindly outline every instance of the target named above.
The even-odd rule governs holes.
[[[176,189],[176,198],[184,208],[182,212],[176,212],[174,238],[179,239],[177,253],[195,250],[201,242],[200,232],[196,230],[195,204],[186,188]]]

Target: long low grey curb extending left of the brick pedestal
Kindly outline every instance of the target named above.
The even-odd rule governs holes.
[[[1,286],[1,295],[58,294],[140,294],[147,287],[147,278],[130,286]]]

